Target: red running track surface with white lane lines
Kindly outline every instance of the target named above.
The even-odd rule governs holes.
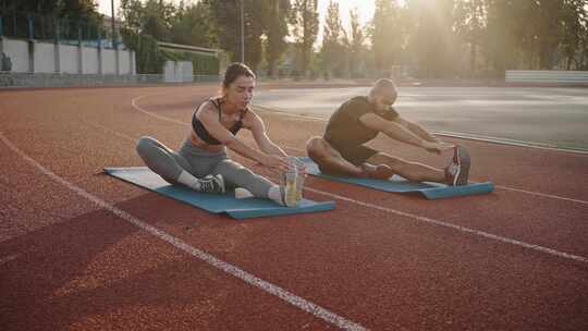
[[[588,156],[460,140],[493,194],[429,201],[309,177],[334,211],[244,222],[100,173],[140,166],[142,135],[177,147],[216,90],[0,93],[3,329],[588,330]],[[259,113],[294,155],[324,125]]]

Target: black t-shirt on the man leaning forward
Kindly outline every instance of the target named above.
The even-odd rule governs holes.
[[[379,132],[359,121],[366,113],[375,113],[388,121],[399,115],[392,107],[384,114],[379,114],[367,97],[355,97],[341,105],[331,115],[324,131],[324,139],[338,147],[358,146],[373,139]]]

